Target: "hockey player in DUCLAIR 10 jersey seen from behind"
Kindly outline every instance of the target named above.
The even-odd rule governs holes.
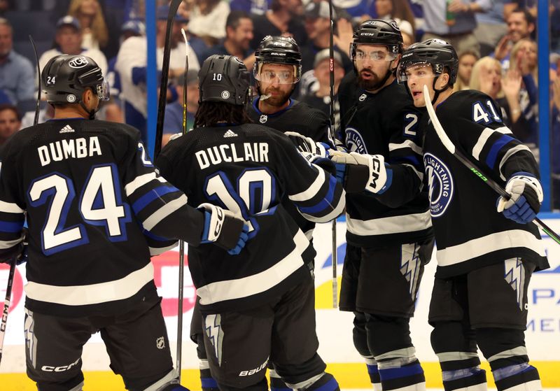
[[[316,353],[309,241],[281,197],[320,222],[342,213],[344,190],[287,136],[249,123],[250,75],[237,57],[209,57],[199,79],[195,129],[170,141],[156,164],[189,203],[224,206],[251,225],[235,258],[210,246],[189,250],[211,374],[221,390],[267,390],[270,360],[290,388],[338,390]]]

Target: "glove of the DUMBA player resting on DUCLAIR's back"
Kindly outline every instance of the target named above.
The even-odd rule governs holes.
[[[200,243],[215,243],[230,255],[241,253],[248,239],[248,225],[232,212],[212,204],[200,204],[204,209],[204,231]]]

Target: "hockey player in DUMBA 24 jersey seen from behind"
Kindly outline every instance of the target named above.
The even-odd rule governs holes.
[[[90,57],[54,57],[41,77],[55,118],[19,131],[0,156],[3,262],[22,248],[25,213],[29,226],[27,374],[38,390],[81,390],[82,348],[100,332],[127,390],[186,390],[150,255],[165,250],[162,238],[239,253],[244,222],[218,206],[188,206],[155,172],[137,129],[94,120],[109,90]]]

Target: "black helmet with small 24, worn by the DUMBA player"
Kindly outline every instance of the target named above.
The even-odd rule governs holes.
[[[93,59],[81,55],[52,57],[41,73],[43,93],[50,104],[77,104],[86,88],[99,100],[109,100],[109,84]]]

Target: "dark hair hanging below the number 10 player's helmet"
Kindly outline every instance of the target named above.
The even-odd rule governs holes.
[[[195,114],[195,127],[212,127],[220,122],[241,125],[253,121],[249,118],[244,105],[213,101],[201,102]]]

